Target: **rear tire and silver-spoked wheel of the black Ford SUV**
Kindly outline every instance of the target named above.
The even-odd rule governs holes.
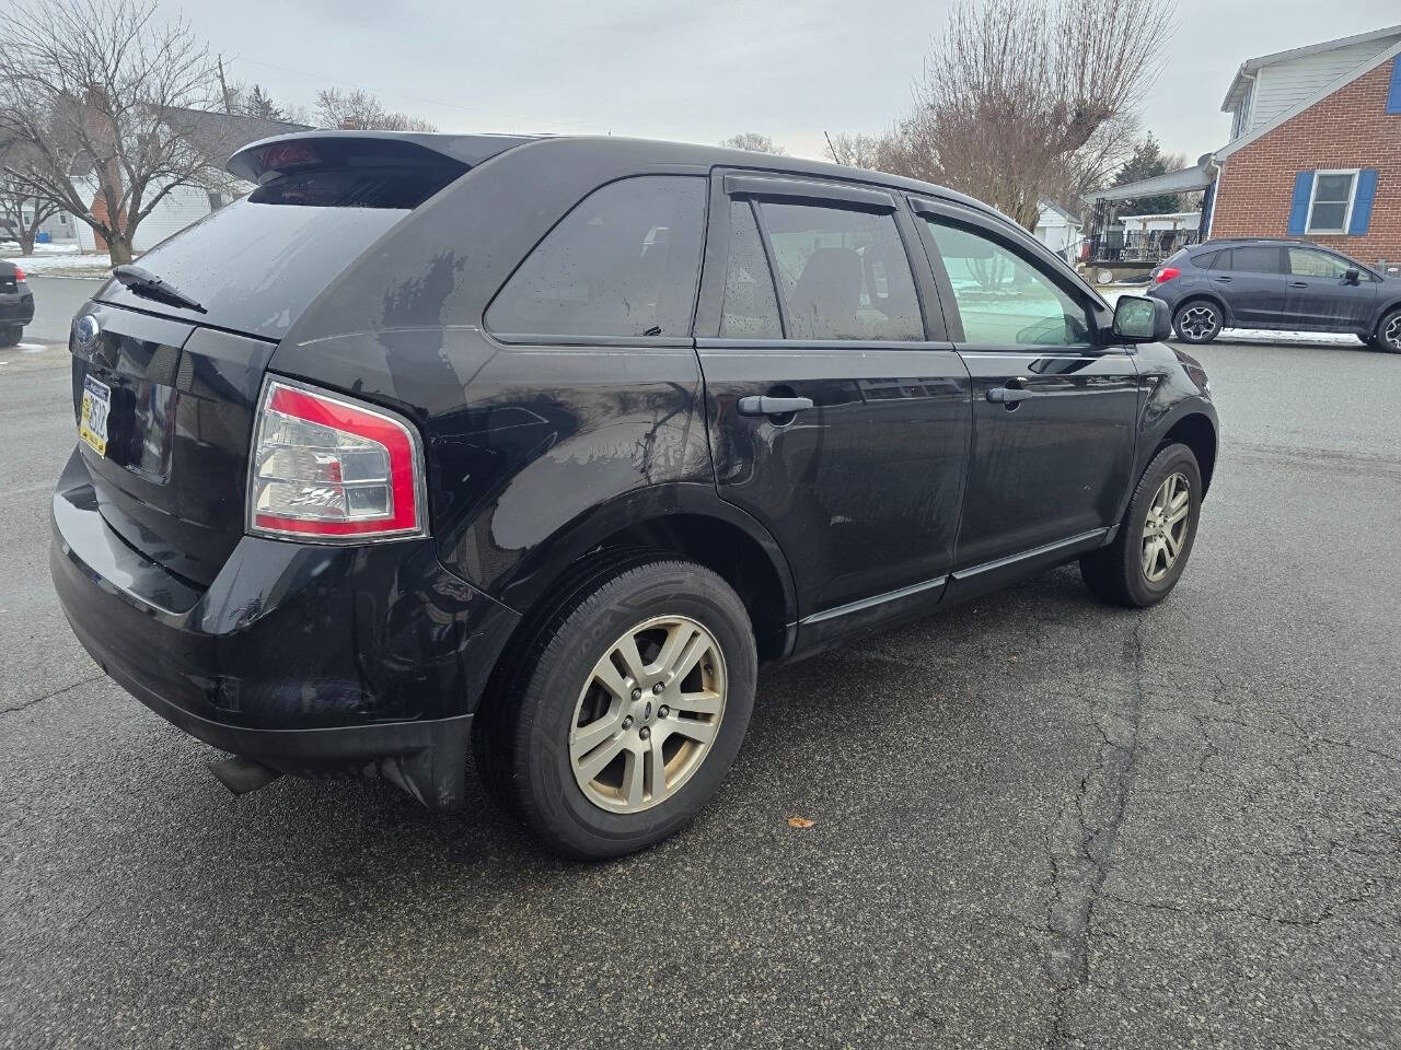
[[[719,788],[754,707],[754,631],[724,580],[671,554],[612,557],[562,592],[478,714],[476,763],[555,853],[621,857]]]

